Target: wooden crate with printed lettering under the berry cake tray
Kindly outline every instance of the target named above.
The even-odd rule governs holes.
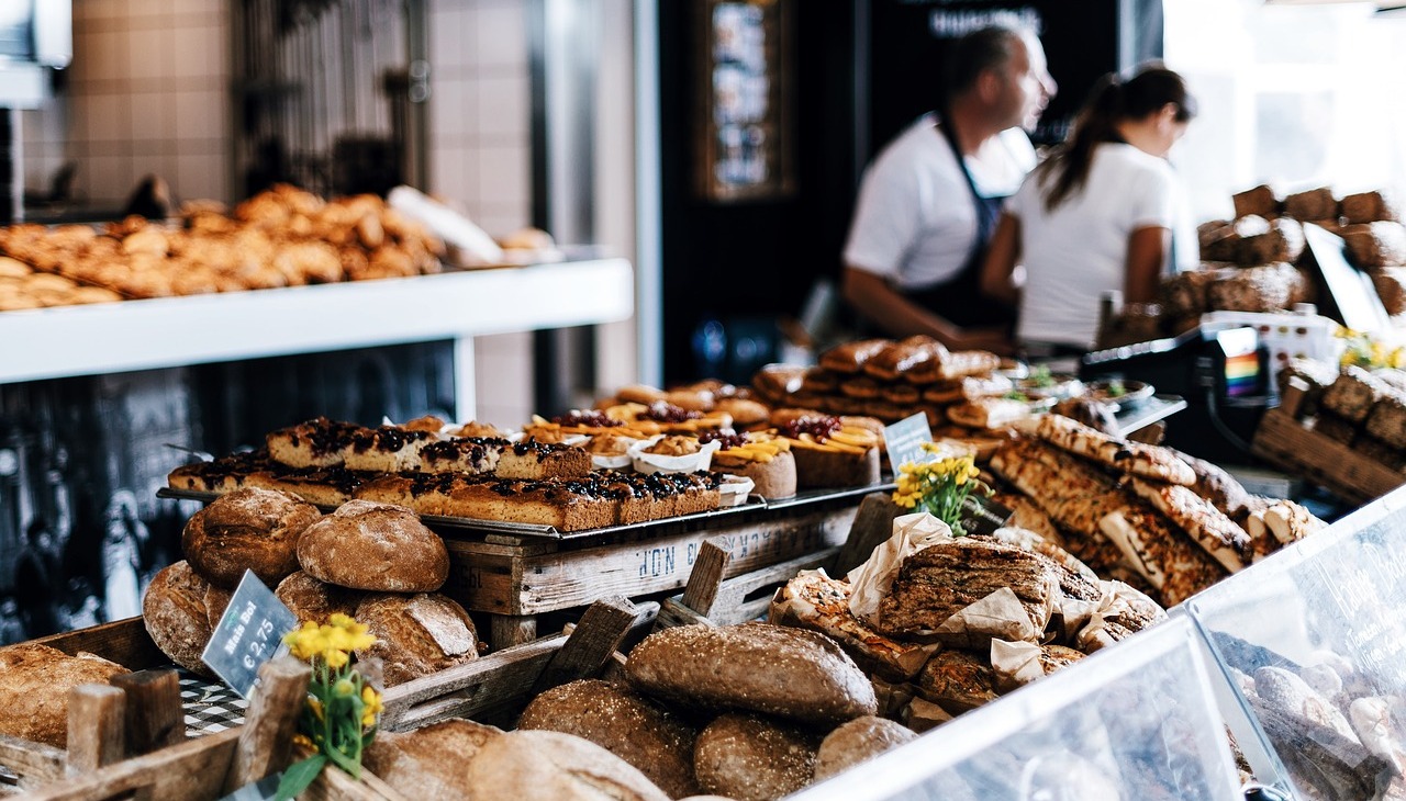
[[[541,613],[683,587],[707,540],[730,554],[727,576],[835,548],[848,537],[858,503],[858,496],[848,496],[758,510],[717,528],[665,523],[606,538],[446,534],[450,578],[440,592],[491,616],[489,644],[498,651],[536,639]]]

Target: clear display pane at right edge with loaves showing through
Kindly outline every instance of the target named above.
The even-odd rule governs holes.
[[[1187,603],[1256,774],[1301,798],[1399,798],[1406,490]]]

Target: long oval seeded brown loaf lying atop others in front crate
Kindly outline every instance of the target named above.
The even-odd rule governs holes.
[[[869,677],[835,641],[765,623],[657,631],[630,652],[626,675],[644,693],[697,707],[827,724],[879,711]]]

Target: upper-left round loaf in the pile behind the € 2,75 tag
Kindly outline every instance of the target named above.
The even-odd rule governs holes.
[[[298,569],[298,538],[319,517],[295,495],[246,486],[191,516],[181,551],[212,585],[235,587],[247,568],[273,587]]]

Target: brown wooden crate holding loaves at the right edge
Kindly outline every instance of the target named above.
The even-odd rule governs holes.
[[[1369,460],[1299,420],[1305,389],[1298,379],[1291,381],[1279,408],[1264,413],[1250,445],[1254,455],[1353,503],[1367,503],[1406,483],[1406,474]]]

